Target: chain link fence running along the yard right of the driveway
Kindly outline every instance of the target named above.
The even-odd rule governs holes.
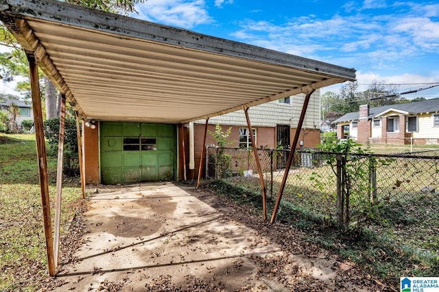
[[[206,177],[261,191],[251,149],[208,147],[206,153]],[[266,194],[275,198],[289,150],[257,153]],[[320,218],[322,226],[366,228],[439,253],[439,149],[392,155],[296,151],[283,200]]]

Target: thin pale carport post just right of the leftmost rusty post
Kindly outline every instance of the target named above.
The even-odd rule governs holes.
[[[58,168],[56,169],[56,197],[55,197],[55,231],[54,231],[54,260],[58,267],[60,251],[60,222],[61,222],[61,199],[62,199],[62,170],[64,158],[64,133],[66,118],[66,96],[61,94],[60,102],[60,132],[58,140]]]

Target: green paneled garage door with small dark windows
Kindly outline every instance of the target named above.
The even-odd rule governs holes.
[[[174,179],[173,124],[101,122],[100,139],[102,183]]]

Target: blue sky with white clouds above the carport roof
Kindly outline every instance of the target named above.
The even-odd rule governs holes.
[[[360,90],[439,83],[438,1],[146,0],[137,10],[132,17],[355,68]],[[439,97],[439,87],[404,96]]]

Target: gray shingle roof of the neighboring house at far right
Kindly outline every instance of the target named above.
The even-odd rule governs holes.
[[[383,111],[387,111],[389,109],[397,109],[400,111],[407,111],[410,114],[420,114],[420,113],[431,113],[439,111],[439,98],[429,99],[427,101],[415,101],[412,103],[399,103],[397,105],[383,105],[382,107],[371,107],[369,109],[368,118],[375,118],[378,114],[381,114]],[[337,120],[333,121],[333,124],[337,124],[338,122],[348,122],[351,120],[359,119],[359,111],[355,111],[352,113],[345,114]]]

